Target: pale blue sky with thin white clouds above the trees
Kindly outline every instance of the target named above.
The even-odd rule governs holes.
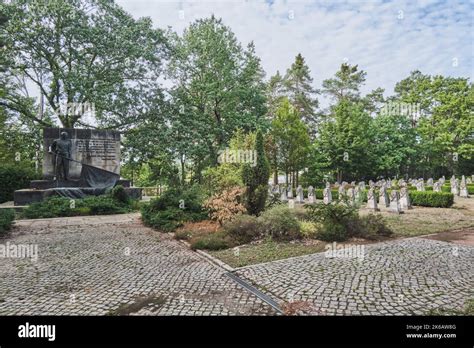
[[[214,14],[239,41],[255,42],[267,78],[301,53],[314,85],[346,60],[367,72],[364,92],[393,92],[412,70],[469,77],[474,72],[473,1],[117,0],[134,17],[182,33]]]

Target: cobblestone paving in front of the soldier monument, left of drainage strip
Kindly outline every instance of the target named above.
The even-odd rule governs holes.
[[[38,260],[0,258],[0,315],[275,314],[138,214],[18,221],[0,245],[19,244]]]

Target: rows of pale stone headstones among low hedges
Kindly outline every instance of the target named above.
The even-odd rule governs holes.
[[[446,179],[443,176],[437,182],[433,182],[433,179],[428,179],[426,182],[427,186],[433,186],[434,192],[441,192],[441,187],[444,185]],[[470,184],[474,181],[474,175],[472,178],[468,178],[466,180],[465,176],[462,176],[461,182],[459,183],[459,179],[453,177],[450,180],[451,183],[451,193],[454,195],[468,198],[468,190],[467,184]],[[369,181],[369,190],[367,192],[367,208],[371,210],[378,211],[378,204],[380,206],[385,206],[389,208],[393,212],[400,213],[405,209],[412,209],[411,201],[410,201],[410,194],[408,190],[408,183],[414,185],[417,191],[425,191],[425,182],[423,179],[409,179],[406,182],[403,179],[398,181],[398,186],[400,186],[400,191],[392,190],[390,193],[390,198],[388,196],[387,189],[392,188],[392,182],[389,179],[388,181],[380,180],[377,182],[373,182],[372,180]],[[347,189],[346,187],[349,186]],[[356,205],[362,203],[362,190],[365,190],[365,182],[361,181],[359,184],[356,184],[353,181],[350,185],[347,182],[342,182],[341,184],[335,183],[334,187],[338,187],[339,201],[345,201],[348,204]],[[377,199],[375,195],[375,189],[379,187],[379,202],[377,204]],[[305,203],[303,188],[299,185],[296,188],[296,196],[293,196],[293,188],[288,187],[287,189],[280,189],[279,185],[270,186],[269,191],[276,195],[280,195],[281,202],[288,202],[290,208],[294,207],[295,203]],[[313,186],[308,187],[308,203],[315,202],[315,195],[314,195],[314,188]],[[329,204],[333,201],[332,199],[332,192],[331,192],[331,184],[329,182],[326,183],[326,188],[323,190],[323,202],[325,204]]]

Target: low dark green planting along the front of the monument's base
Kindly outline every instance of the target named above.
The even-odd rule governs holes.
[[[50,197],[32,203],[21,212],[24,219],[54,218],[77,215],[124,214],[131,211],[129,205],[119,203],[108,195],[87,196],[83,199]]]

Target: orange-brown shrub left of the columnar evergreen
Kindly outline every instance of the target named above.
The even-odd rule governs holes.
[[[209,210],[210,218],[222,225],[224,221],[232,220],[237,214],[245,213],[246,209],[241,203],[243,194],[243,188],[233,187],[215,194],[204,202],[203,206]]]

